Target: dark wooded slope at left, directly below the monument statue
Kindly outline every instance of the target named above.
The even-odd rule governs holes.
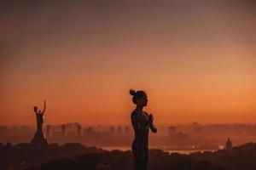
[[[31,144],[0,143],[0,170],[25,170],[28,167],[40,166],[57,158],[102,151],[96,147],[86,147],[83,144],[49,144],[44,148],[34,148]]]

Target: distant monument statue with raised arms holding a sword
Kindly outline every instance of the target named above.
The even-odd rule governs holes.
[[[46,101],[44,100],[44,111],[46,110]],[[37,132],[32,139],[33,146],[44,146],[47,145],[47,139],[44,138],[43,123],[44,123],[44,111],[38,111],[38,107],[34,106],[34,112],[37,118]]]

